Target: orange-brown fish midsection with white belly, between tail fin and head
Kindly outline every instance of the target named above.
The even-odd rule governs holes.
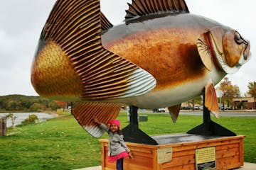
[[[204,26],[200,21],[205,22]],[[124,24],[103,34],[102,44],[107,50],[137,64],[156,79],[152,91],[129,102],[139,108],[161,108],[201,95],[211,76],[198,53],[197,38],[215,26],[221,25],[186,13]],[[129,31],[134,27],[137,29]],[[214,72],[217,79],[213,83],[218,84],[225,73],[218,67]]]

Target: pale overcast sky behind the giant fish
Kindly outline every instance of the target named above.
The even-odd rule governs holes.
[[[129,0],[101,0],[102,12],[114,24],[122,23]],[[38,96],[30,81],[31,63],[41,30],[55,0],[1,0],[0,5],[0,96]],[[253,0],[187,0],[191,13],[230,26],[251,43],[251,60],[228,75],[242,94],[249,81],[256,81],[256,23]]]

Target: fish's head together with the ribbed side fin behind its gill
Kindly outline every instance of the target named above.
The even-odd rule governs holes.
[[[199,36],[197,47],[208,70],[215,65],[226,74],[233,74],[250,60],[250,42],[231,28],[211,28]]]

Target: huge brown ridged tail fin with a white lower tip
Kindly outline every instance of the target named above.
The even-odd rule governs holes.
[[[43,28],[37,53],[60,49],[80,79],[81,100],[139,96],[156,86],[149,72],[102,46],[102,30],[111,26],[100,0],[58,0]]]

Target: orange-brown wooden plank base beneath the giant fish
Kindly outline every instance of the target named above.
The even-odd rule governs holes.
[[[243,138],[245,136],[212,137],[190,134],[152,137],[159,145],[127,142],[133,158],[124,159],[124,170],[181,170],[196,169],[196,150],[215,147],[217,169],[243,166]],[[102,170],[114,170],[115,163],[107,162],[108,140],[102,139]]]

